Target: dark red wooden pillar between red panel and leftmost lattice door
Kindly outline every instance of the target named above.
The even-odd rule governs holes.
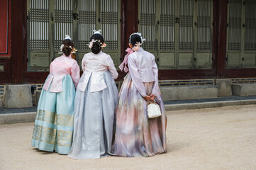
[[[23,83],[24,61],[26,61],[26,0],[11,0],[12,84]]]

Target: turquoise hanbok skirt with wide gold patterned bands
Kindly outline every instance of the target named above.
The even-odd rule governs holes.
[[[75,89],[70,75],[62,79],[62,92],[42,90],[35,117],[32,147],[68,154],[72,145]]]

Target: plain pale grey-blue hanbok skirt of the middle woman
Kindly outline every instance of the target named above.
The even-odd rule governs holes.
[[[73,144],[68,157],[98,159],[111,152],[118,89],[108,71],[104,72],[104,81],[107,87],[101,91],[90,92],[91,77],[84,92],[77,89]]]

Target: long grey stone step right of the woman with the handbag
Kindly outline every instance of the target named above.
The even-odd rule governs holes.
[[[218,86],[160,86],[163,101],[217,98]]]

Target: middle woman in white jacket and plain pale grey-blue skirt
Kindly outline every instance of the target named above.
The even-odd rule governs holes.
[[[118,77],[99,30],[90,38],[91,52],[82,60],[83,74],[74,101],[74,136],[68,157],[97,159],[111,152]]]

